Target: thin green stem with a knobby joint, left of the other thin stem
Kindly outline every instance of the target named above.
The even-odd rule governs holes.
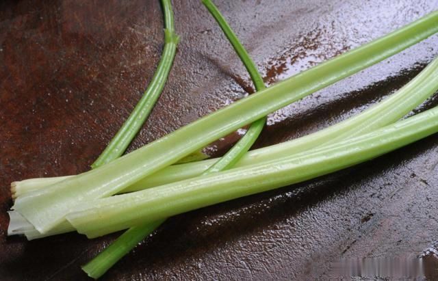
[[[170,0],[162,0],[162,3],[164,2],[169,2],[166,5],[170,5]],[[110,144],[103,150],[99,158],[92,163],[92,168],[109,163],[123,155],[132,139],[136,137],[138,131],[142,128],[144,121],[148,118],[159,95],[162,93],[170,68],[172,68],[173,59],[177,53],[179,41],[179,37],[175,34],[172,9],[164,9],[164,26],[164,50],[151,83],[129,118],[111,139]]]

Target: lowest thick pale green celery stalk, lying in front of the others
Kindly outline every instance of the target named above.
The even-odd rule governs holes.
[[[79,233],[96,237],[211,204],[284,187],[348,168],[438,132],[438,107],[396,124],[315,150],[189,180],[90,200],[67,215]]]

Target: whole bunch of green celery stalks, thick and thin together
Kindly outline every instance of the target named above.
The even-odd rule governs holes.
[[[252,59],[210,0],[203,4],[242,59],[257,92],[123,155],[164,88],[176,54],[170,0],[164,50],[144,96],[114,139],[75,176],[11,184],[9,235],[38,239],[77,231],[89,238],[126,230],[83,270],[99,278],[167,217],[300,183],[348,168],[438,132],[438,107],[402,119],[438,90],[438,59],[417,77],[357,116],[289,142],[251,150],[266,115],[395,55],[438,32],[438,12],[265,88]],[[207,159],[201,149],[250,124],[229,152]]]

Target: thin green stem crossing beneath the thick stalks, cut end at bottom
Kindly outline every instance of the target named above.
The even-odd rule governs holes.
[[[255,89],[257,91],[265,88],[263,83],[263,78],[261,77],[259,71],[257,70],[253,59],[250,58],[248,52],[244,46],[240,43],[239,39],[228,25],[225,18],[220,14],[216,6],[209,0],[202,1],[205,7],[209,10],[210,14],[214,16],[218,22],[222,31],[227,36],[229,42],[233,46],[235,52],[242,60],[246,70],[253,80]],[[264,124],[266,123],[266,117],[263,117],[250,125],[248,131],[242,139],[240,139],[237,144],[231,148],[227,154],[220,158],[214,165],[206,170],[203,174],[209,174],[213,172],[219,172],[221,170],[227,170],[231,168],[237,161],[245,155],[246,152],[253,146],[257,137],[261,133]],[[150,235],[155,228],[160,226],[166,219],[161,219],[158,222],[153,222],[153,224],[144,224],[142,226],[133,226],[129,228],[123,235],[118,237],[110,246],[106,247],[101,253],[99,253],[95,258],[90,260],[89,263],[82,267],[83,271],[88,273],[88,276],[92,278],[99,278],[108,269],[112,267],[120,258],[123,258],[130,250],[132,250],[138,243],[144,240],[146,236]]]

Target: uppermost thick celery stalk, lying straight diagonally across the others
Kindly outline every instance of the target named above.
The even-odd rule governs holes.
[[[438,31],[438,12],[232,103],[100,168],[16,199],[14,209],[41,233],[84,200],[111,196],[214,140],[355,74]]]

